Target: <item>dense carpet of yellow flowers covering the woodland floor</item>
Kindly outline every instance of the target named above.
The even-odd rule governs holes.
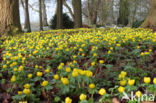
[[[11,83],[8,92],[15,102],[39,103],[43,96],[51,101],[48,103],[76,103],[77,98],[79,103],[95,103],[98,99],[93,100],[93,96],[99,94],[102,98],[97,103],[103,103],[110,95],[104,96],[109,91],[95,84],[97,75],[110,65],[121,66],[121,61],[123,68],[130,63],[144,68],[156,50],[156,33],[141,28],[51,30],[8,36],[1,48],[0,73],[6,83]],[[126,88],[134,86],[136,78],[125,79],[126,70],[120,71],[115,84],[120,86],[114,89],[121,96]],[[145,84],[154,76],[145,77]],[[155,84],[156,78],[151,85]]]

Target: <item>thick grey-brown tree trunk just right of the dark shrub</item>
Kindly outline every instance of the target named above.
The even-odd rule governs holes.
[[[82,9],[81,0],[72,0],[72,5],[74,9],[74,27],[82,27]]]

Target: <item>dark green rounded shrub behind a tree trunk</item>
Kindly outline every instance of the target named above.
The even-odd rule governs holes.
[[[57,14],[50,20],[50,28],[56,29],[57,26]],[[67,14],[63,14],[63,29],[70,29],[74,27],[74,22],[70,19]]]

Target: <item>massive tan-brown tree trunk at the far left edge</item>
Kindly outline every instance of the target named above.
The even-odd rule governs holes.
[[[19,1],[0,0],[0,35],[20,31]]]

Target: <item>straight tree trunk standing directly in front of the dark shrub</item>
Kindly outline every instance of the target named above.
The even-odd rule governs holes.
[[[63,27],[62,6],[63,1],[57,0],[57,29],[62,29]]]

